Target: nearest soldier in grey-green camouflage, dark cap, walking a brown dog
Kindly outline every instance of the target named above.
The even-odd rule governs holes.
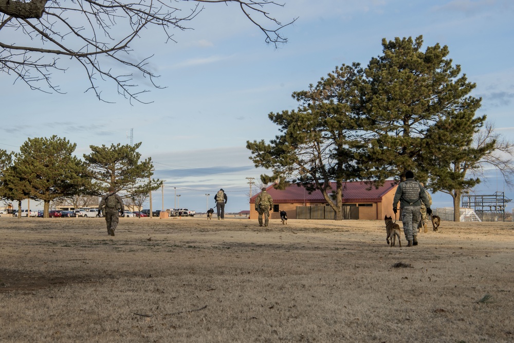
[[[417,225],[421,220],[421,202],[425,203],[427,213],[432,214],[430,202],[425,188],[414,179],[414,173],[410,170],[405,172],[405,181],[400,182],[393,200],[393,212],[396,214],[396,205],[400,202],[401,222],[403,233],[409,242],[407,246],[417,245]]]

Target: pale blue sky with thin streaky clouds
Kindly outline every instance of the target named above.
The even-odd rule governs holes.
[[[288,43],[275,49],[236,6],[209,5],[189,25],[176,31],[176,43],[149,31],[134,44],[134,57],[150,60],[158,84],[142,100],[128,103],[116,88],[100,82],[98,101],[86,92],[79,68],[54,75],[66,92],[30,91],[2,75],[0,149],[19,151],[28,138],[58,135],[77,143],[78,156],[89,145],[142,142],[139,151],[151,156],[155,177],[164,180],[153,193],[153,208],[188,207],[205,211],[224,188],[226,210],[249,208],[247,177],[259,178],[248,159],[247,140],[272,139],[278,130],[270,112],[296,109],[292,92],[307,89],[341,64],[366,65],[381,54],[381,40],[423,35],[424,48],[448,45],[450,58],[471,82],[473,96],[482,97],[478,115],[487,114],[497,132],[514,140],[511,106],[514,99],[514,2],[510,0],[284,0],[268,11],[283,23]],[[139,78],[139,84],[148,80]],[[149,86],[145,86],[148,88]],[[495,170],[475,188],[477,193],[505,191]],[[175,195],[180,194],[178,204]],[[205,194],[211,194],[207,197]],[[433,207],[452,206],[449,195],[433,195]],[[31,202],[31,207],[33,207]],[[507,211],[511,211],[509,204]]]

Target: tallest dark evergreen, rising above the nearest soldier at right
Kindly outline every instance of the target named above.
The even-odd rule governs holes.
[[[363,88],[363,129],[368,138],[369,177],[379,181],[413,170],[426,188],[453,198],[454,219],[461,195],[480,183],[473,170],[497,148],[494,140],[473,147],[486,116],[475,117],[481,98],[476,84],[436,44],[421,51],[423,37],[382,40],[383,55],[373,58]]]

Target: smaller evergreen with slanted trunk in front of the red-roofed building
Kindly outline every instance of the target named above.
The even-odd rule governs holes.
[[[292,179],[309,191],[319,189],[335,210],[336,220],[342,219],[344,182],[360,176],[355,111],[361,77],[358,64],[336,68],[308,91],[293,93],[300,102],[297,111],[269,114],[269,119],[280,125],[282,135],[270,144],[247,141],[255,166],[273,172],[261,175],[264,184],[278,180],[276,187],[281,188]]]

